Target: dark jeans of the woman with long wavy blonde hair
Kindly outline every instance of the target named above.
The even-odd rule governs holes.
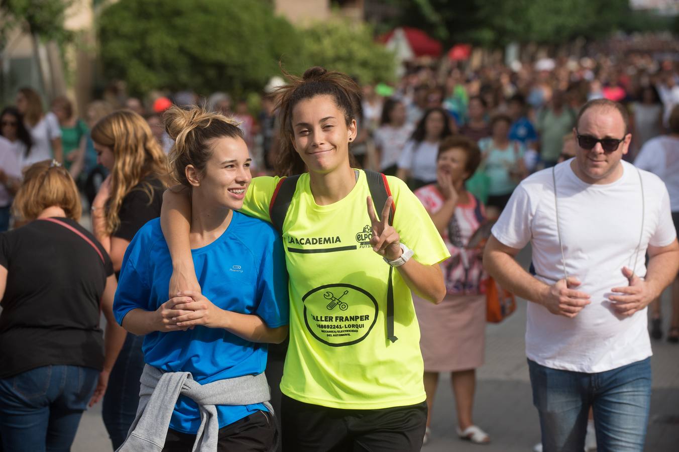
[[[114,451],[127,438],[139,406],[139,379],[144,370],[144,353],[141,351],[143,341],[143,336],[127,334],[104,395],[101,417]]]

